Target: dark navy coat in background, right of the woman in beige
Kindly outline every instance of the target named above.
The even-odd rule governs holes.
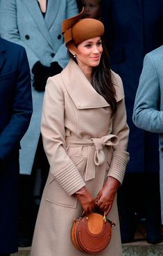
[[[162,0],[103,0],[111,68],[123,81],[130,136],[127,172],[159,170],[158,137],[132,122],[135,94],[146,53],[163,43]]]

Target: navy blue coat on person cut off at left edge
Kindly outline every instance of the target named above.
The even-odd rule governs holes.
[[[19,142],[32,109],[26,51],[0,38],[0,254],[17,251]]]

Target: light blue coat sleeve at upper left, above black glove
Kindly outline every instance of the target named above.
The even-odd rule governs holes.
[[[30,60],[30,68],[33,68],[34,63],[39,61],[31,48],[28,47],[28,45],[26,45],[26,43],[24,43],[19,37],[16,0],[0,1],[0,35],[1,38],[25,47],[28,60]]]

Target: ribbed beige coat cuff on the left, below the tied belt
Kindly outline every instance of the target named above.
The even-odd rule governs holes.
[[[85,186],[85,181],[83,181],[82,176],[73,164],[61,170],[60,173],[55,175],[55,179],[68,195],[73,195]]]

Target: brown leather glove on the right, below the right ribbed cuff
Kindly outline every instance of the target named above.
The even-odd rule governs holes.
[[[112,208],[112,203],[114,201],[114,197],[117,193],[119,185],[120,183],[117,179],[109,176],[103,188],[98,192],[98,195],[96,196],[95,204],[100,211],[105,211],[106,216]]]

